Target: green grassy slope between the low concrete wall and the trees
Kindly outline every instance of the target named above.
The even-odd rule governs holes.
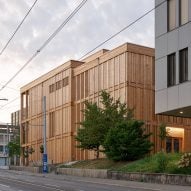
[[[166,154],[165,161],[167,166],[164,170],[159,168],[161,155],[155,154],[133,162],[114,162],[108,159],[94,159],[78,161],[71,165],[62,165],[60,167],[67,168],[85,168],[85,169],[107,169],[121,172],[144,172],[144,173],[168,173],[168,174],[190,174],[191,168],[178,168],[177,163],[181,158],[181,154]],[[163,159],[163,158],[162,158]]]

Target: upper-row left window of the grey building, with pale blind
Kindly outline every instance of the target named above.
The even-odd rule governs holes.
[[[168,0],[168,31],[176,27],[176,0]]]

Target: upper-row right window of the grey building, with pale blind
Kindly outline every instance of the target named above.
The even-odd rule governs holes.
[[[180,6],[180,25],[188,22],[188,0],[179,0]]]

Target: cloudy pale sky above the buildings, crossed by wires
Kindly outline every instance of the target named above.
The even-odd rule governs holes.
[[[35,0],[0,0],[0,51]],[[82,0],[38,0],[20,29],[0,55],[0,88],[41,47]],[[20,109],[20,88],[73,59],[154,7],[154,0],[88,0],[56,37],[19,75],[0,91],[0,123],[10,123]],[[126,42],[154,47],[154,12],[97,49],[113,49]]]

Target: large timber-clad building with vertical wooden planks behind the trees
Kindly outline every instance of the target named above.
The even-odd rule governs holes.
[[[153,152],[160,150],[158,126],[162,122],[185,128],[186,151],[191,145],[191,120],[154,114],[154,49],[126,43],[111,51],[99,51],[83,62],[69,61],[21,89],[21,143],[35,152],[30,161],[41,161],[42,97],[46,96],[47,153],[49,163],[95,158],[94,152],[76,147],[75,135],[83,120],[84,100],[100,104],[99,92],[120,97],[134,116],[151,132]],[[26,138],[27,136],[27,138]],[[25,141],[24,141],[25,140]],[[103,156],[103,155],[102,155]],[[23,159],[23,163],[26,160]]]

